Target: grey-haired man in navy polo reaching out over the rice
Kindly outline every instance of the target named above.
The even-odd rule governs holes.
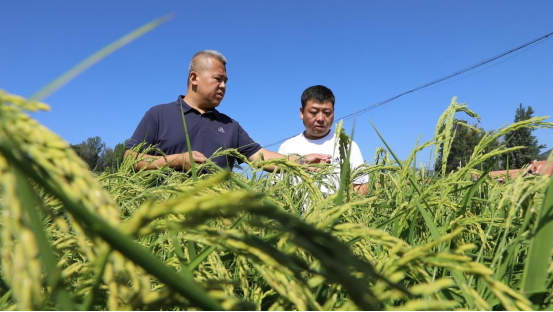
[[[177,170],[190,169],[183,114],[196,164],[205,163],[207,157],[217,150],[229,148],[238,149],[249,161],[255,161],[261,154],[264,159],[286,157],[255,143],[238,122],[215,109],[225,96],[228,80],[226,63],[226,58],[217,51],[196,53],[190,62],[186,95],[179,96],[175,102],[154,106],[146,112],[127,143],[125,157],[131,153],[133,146],[142,142],[146,142],[145,147],[155,145],[166,156],[151,155],[153,161],[138,162],[136,170],[143,167],[157,169],[167,164]],[[328,163],[330,158],[330,155],[324,154],[289,156],[289,160],[302,164]],[[212,159],[220,167],[229,169],[232,169],[235,160],[230,156]]]

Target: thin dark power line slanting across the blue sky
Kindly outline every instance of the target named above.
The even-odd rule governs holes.
[[[488,58],[488,59],[486,59],[486,60],[483,60],[483,61],[481,61],[481,62],[478,62],[478,63],[476,63],[476,64],[474,64],[474,65],[469,66],[469,67],[465,67],[465,68],[463,68],[463,69],[461,69],[461,70],[458,70],[458,71],[456,71],[456,72],[454,72],[454,73],[452,73],[452,74],[449,74],[449,75],[447,75],[447,76],[444,76],[444,77],[442,77],[442,78],[439,78],[439,79],[433,80],[433,81],[431,81],[431,82],[425,83],[425,84],[423,84],[423,85],[420,86],[420,87],[416,87],[416,88],[414,88],[414,89],[412,89],[412,90],[409,90],[409,91],[400,93],[400,94],[398,94],[398,95],[396,95],[396,96],[393,96],[393,97],[391,97],[391,98],[389,98],[389,99],[387,99],[387,100],[378,102],[378,103],[376,103],[376,104],[374,104],[374,105],[371,105],[371,106],[366,107],[366,108],[364,108],[364,109],[358,110],[358,111],[356,111],[356,112],[354,112],[354,113],[351,113],[351,114],[349,114],[349,115],[346,115],[346,116],[344,116],[344,117],[342,117],[342,118],[338,118],[338,120],[342,120],[342,119],[343,119],[343,120],[348,120],[348,119],[354,118],[354,117],[359,116],[359,115],[361,115],[361,114],[363,114],[363,113],[366,113],[366,112],[368,112],[368,111],[370,111],[370,110],[373,110],[373,109],[375,109],[375,108],[377,108],[377,107],[380,107],[380,106],[382,106],[382,105],[384,105],[384,104],[387,104],[387,103],[389,103],[389,102],[391,102],[391,101],[393,101],[393,100],[395,100],[395,99],[397,99],[397,98],[399,98],[399,97],[401,97],[401,96],[404,96],[404,95],[406,95],[406,94],[409,94],[409,93],[412,93],[412,92],[415,92],[415,91],[418,91],[418,90],[421,90],[421,89],[424,89],[424,88],[427,88],[427,87],[429,87],[429,86],[431,86],[431,85],[435,85],[435,84],[440,83],[440,82],[442,82],[442,81],[444,81],[444,80],[453,78],[453,77],[455,77],[455,76],[459,76],[459,75],[464,74],[464,73],[466,73],[466,72],[468,72],[468,71],[470,71],[470,70],[473,70],[473,69],[478,68],[478,67],[480,67],[480,66],[486,65],[486,64],[488,64],[488,63],[490,63],[490,62],[493,62],[493,61],[495,61],[495,60],[497,60],[497,59],[499,59],[499,58],[502,58],[502,57],[504,57],[504,56],[506,56],[506,55],[508,55],[508,54],[511,54],[511,53],[513,53],[513,52],[515,52],[515,51],[518,51],[518,50],[520,50],[520,49],[523,49],[523,48],[525,48],[525,47],[527,47],[527,46],[529,46],[529,45],[531,45],[531,44],[534,44],[534,43],[536,43],[536,42],[538,42],[538,41],[547,39],[547,38],[548,38],[549,36],[551,36],[551,35],[553,35],[553,32],[552,32],[552,33],[549,33],[549,34],[547,34],[547,35],[541,36],[541,37],[539,37],[539,38],[537,38],[537,39],[534,39],[534,40],[532,40],[532,41],[529,41],[529,42],[527,42],[527,43],[525,43],[525,44],[522,44],[522,45],[520,45],[520,46],[518,46],[518,47],[512,48],[512,49],[510,49],[510,50],[508,50],[508,51],[506,51],[506,52],[503,52],[503,53],[501,53],[501,54],[498,54],[498,55],[496,55],[496,56],[494,56],[494,57],[490,57],[490,58]],[[280,141],[277,141],[277,142],[271,143],[271,144],[269,144],[269,145],[266,145],[265,147],[270,147],[270,146],[277,145],[277,144],[282,143],[282,142],[284,142],[284,141],[286,141],[286,140],[288,140],[288,139],[291,139],[291,138],[293,138],[293,137],[294,137],[294,136],[288,137],[288,138],[286,138],[286,139],[282,139],[282,140],[280,140]]]

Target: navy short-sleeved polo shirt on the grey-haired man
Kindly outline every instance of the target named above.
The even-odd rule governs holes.
[[[261,149],[234,119],[216,109],[201,114],[186,104],[182,95],[175,102],[150,108],[127,143],[127,149],[146,142],[145,147],[155,145],[166,155],[187,152],[181,105],[193,151],[210,158],[219,149],[236,148],[242,155],[250,157]],[[159,156],[157,153],[153,155]],[[232,169],[237,159],[219,156],[211,160],[222,168]]]

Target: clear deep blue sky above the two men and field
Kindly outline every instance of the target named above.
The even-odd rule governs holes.
[[[26,97],[139,26],[175,14],[44,99],[50,112],[33,115],[72,144],[100,136],[110,147],[129,138],[151,106],[186,92],[188,63],[199,50],[227,57],[219,110],[267,146],[303,131],[300,96],[309,86],[333,90],[339,118],[553,32],[549,0],[3,1],[1,7],[0,89]],[[520,103],[532,106],[534,116],[552,115],[551,55],[553,36],[404,95],[360,114],[354,139],[372,163],[382,143],[370,120],[406,158],[419,136],[432,138],[453,96],[482,117],[486,130],[512,123]],[[345,122],[348,132],[353,126],[353,119]],[[552,131],[534,135],[549,149]],[[427,165],[429,155],[421,153],[418,162]]]

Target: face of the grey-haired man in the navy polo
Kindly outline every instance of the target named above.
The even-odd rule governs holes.
[[[216,58],[206,60],[205,69],[197,73],[193,83],[205,108],[215,108],[221,104],[227,89],[227,69]]]

